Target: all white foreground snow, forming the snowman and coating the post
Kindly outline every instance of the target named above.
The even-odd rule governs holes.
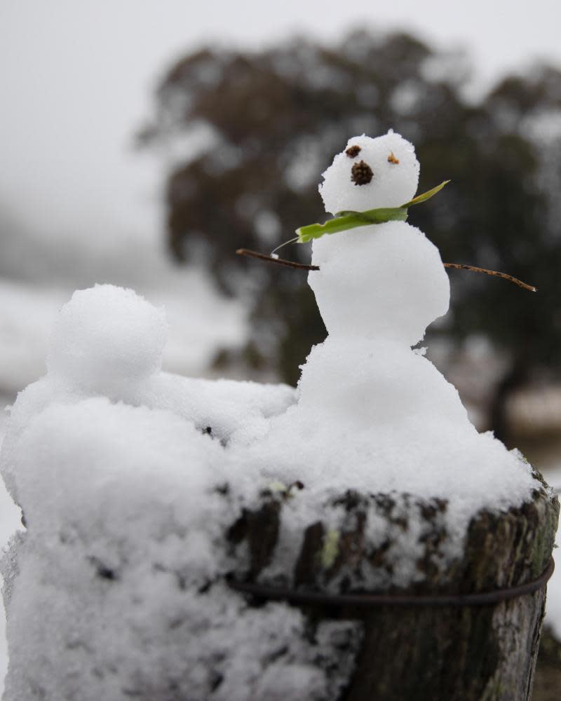
[[[413,196],[411,144],[393,133],[349,144],[360,144],[374,179],[356,186],[352,159],[339,154],[325,172],[324,198],[337,191],[328,208]],[[326,700],[351,672],[360,630],[324,622],[306,637],[298,611],[256,610],[224,587],[224,531],[243,506],[271,482],[304,483],[283,510],[282,570],[294,564],[295,533],[324,519],[334,494],[438,497],[450,561],[479,510],[520,505],[539,488],[522,456],[480,435],[457,391],[411,348],[449,303],[433,244],[405,223],[324,239],[309,280],[329,336],[297,390],[162,372],[163,311],[132,290],[97,285],[62,308],[48,372],[18,396],[0,455],[27,523],[4,558],[5,701],[148,701],[185,689],[209,700]],[[337,529],[342,514],[329,518]],[[394,539],[393,584],[422,576],[419,519]],[[383,526],[369,522],[373,544]],[[379,584],[367,573],[365,585]]]

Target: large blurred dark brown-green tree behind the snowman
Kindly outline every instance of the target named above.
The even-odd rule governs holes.
[[[245,294],[252,309],[245,362],[291,383],[312,343],[325,337],[305,274],[234,251],[271,250],[297,226],[325,219],[320,173],[350,136],[393,128],[414,142],[421,191],[445,177],[453,187],[411,210],[410,222],[444,260],[503,269],[540,290],[536,297],[452,273],[453,313],[442,331],[456,339],[485,334],[510,359],[492,406],[504,438],[508,394],[536,370],[559,366],[561,74],[542,68],[505,79],[478,104],[463,97],[468,75],[463,54],[437,53],[407,34],[353,32],[329,47],[295,39],[253,53],[206,48],[164,76],[156,118],[140,140],[165,146],[172,159],[173,254],[202,255],[224,290]],[[544,144],[540,123],[548,118]],[[305,246],[288,254],[309,259]],[[218,362],[232,360],[222,353]]]

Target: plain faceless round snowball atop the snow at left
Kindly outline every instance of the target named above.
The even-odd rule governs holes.
[[[166,336],[163,310],[133,290],[95,285],[62,307],[47,368],[74,386],[107,393],[157,372]]]

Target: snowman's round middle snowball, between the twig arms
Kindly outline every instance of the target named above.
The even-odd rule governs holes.
[[[332,336],[413,346],[450,301],[438,248],[405,222],[361,226],[313,241],[308,282]]]

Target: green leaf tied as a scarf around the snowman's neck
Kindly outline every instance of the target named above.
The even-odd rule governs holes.
[[[339,233],[348,229],[356,229],[357,226],[368,226],[369,224],[384,224],[385,222],[405,222],[407,221],[407,207],[419,205],[421,202],[430,200],[437,192],[448,184],[450,180],[441,182],[432,190],[417,195],[405,205],[400,207],[379,207],[366,212],[343,211],[337,212],[333,219],[329,219],[324,224],[307,224],[296,229],[298,236],[297,243],[307,243],[313,238],[321,238],[325,233]]]

